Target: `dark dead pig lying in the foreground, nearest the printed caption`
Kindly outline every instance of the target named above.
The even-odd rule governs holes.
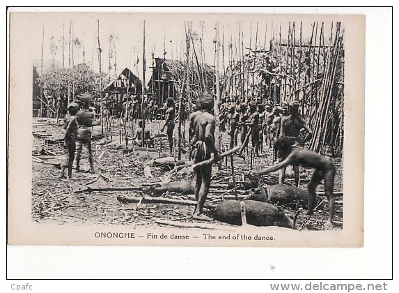
[[[292,228],[293,221],[273,204],[245,201],[247,223],[254,226],[279,226]],[[214,208],[214,219],[232,225],[242,225],[241,204],[237,200],[226,200]]]

